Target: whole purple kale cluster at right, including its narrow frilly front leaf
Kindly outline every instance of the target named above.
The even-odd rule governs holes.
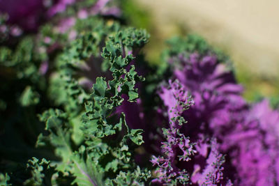
[[[151,160],[158,167],[153,181],[169,184],[169,175],[187,172],[197,185],[278,185],[279,112],[267,100],[248,104],[232,70],[213,54],[179,54],[169,63],[180,85],[170,82],[172,88],[162,86],[158,93],[167,107],[169,129],[163,156]],[[183,109],[186,92],[195,104]],[[178,117],[181,125],[172,120]],[[190,158],[181,162],[177,152]]]

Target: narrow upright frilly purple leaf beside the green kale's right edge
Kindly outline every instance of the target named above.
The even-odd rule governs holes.
[[[190,139],[179,132],[179,127],[186,123],[181,114],[194,102],[178,81],[169,81],[168,86],[162,86],[159,95],[167,107],[169,129],[163,128],[167,140],[162,142],[163,156],[153,156],[151,159],[153,166],[158,167],[155,171],[156,178],[152,182],[163,185],[185,185],[189,176],[185,169],[179,169],[177,161],[188,162],[196,150],[195,144],[190,143]]]

